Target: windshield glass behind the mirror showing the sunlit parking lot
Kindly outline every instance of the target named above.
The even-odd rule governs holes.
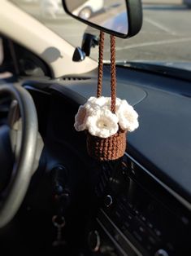
[[[81,46],[83,33],[87,29],[63,11],[61,0],[10,0],[33,15],[41,23],[58,33],[73,46]],[[98,0],[93,0],[98,2]],[[117,5],[117,0],[102,0],[99,10]],[[116,40],[116,60],[149,61],[158,63],[191,63],[191,0],[142,0],[143,27],[134,38]],[[91,15],[84,7],[81,15]],[[110,60],[109,37],[106,37],[104,59]],[[93,59],[98,60],[98,47],[91,50]],[[191,70],[191,68],[190,68]]]

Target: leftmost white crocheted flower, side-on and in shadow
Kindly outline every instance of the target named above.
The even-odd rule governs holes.
[[[87,119],[87,110],[84,106],[80,106],[78,112],[75,116],[75,124],[74,127],[77,131],[85,130],[86,128],[86,119]]]

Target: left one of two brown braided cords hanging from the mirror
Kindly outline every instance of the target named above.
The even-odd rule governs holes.
[[[103,68],[104,32],[99,34],[99,63],[98,63],[98,89],[97,98],[102,96],[102,68]]]

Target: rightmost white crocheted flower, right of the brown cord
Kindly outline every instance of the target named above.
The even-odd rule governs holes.
[[[123,130],[133,131],[139,126],[137,112],[125,99],[121,101],[116,115],[119,118],[119,126]]]

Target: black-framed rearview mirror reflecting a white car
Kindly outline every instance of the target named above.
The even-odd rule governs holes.
[[[63,0],[63,7],[75,19],[119,38],[141,29],[141,0]]]

